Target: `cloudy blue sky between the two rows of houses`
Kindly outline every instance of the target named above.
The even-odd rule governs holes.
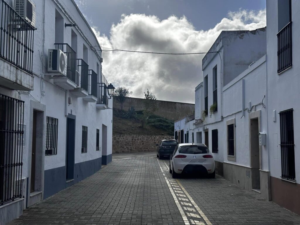
[[[266,26],[262,0],[75,0],[101,46],[135,51],[206,52],[222,30]],[[102,72],[115,87],[143,98],[194,103],[204,55],[103,52]]]

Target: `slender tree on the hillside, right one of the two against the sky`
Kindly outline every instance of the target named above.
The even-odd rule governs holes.
[[[147,118],[158,110],[157,98],[152,92],[147,91],[144,92],[144,110],[143,110],[143,119],[142,119],[142,127],[145,126]]]

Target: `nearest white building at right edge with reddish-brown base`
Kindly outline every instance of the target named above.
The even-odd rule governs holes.
[[[271,198],[300,214],[300,140],[297,138],[300,134],[300,44],[297,41],[300,2],[267,0],[266,3],[267,146]]]

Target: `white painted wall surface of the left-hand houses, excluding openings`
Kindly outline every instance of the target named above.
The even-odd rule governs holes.
[[[30,92],[21,91],[20,96],[25,101],[24,110],[24,124],[26,124],[26,144],[23,146],[23,178],[29,176],[31,168],[28,160],[31,157],[29,149],[29,142],[32,134],[29,134],[29,120],[30,116],[30,100],[38,101],[46,105],[45,116],[51,116],[58,119],[58,149],[57,155],[45,156],[44,169],[49,170],[56,167],[65,166],[66,156],[66,122],[65,117],[65,94],[66,91],[55,86],[52,79],[44,76],[47,72],[47,55],[48,49],[55,48],[55,9],[61,14],[64,23],[71,23],[67,16],[59,9],[53,0],[33,0],[36,4],[36,23],[37,30],[34,34],[34,56],[33,56],[33,73],[34,73],[34,90]],[[84,17],[76,7],[73,0],[59,1],[65,8],[67,13],[75,20],[80,27],[88,41],[92,46],[98,46],[98,41],[94,33],[89,28]],[[12,3],[12,1],[10,1]],[[43,23],[44,22],[44,23]],[[77,58],[83,58],[83,44],[88,47],[88,65],[89,69],[97,72],[97,63],[99,65],[99,73],[101,74],[102,67],[96,53],[91,49],[87,41],[80,35],[75,27],[63,27],[64,43],[71,46],[71,31],[73,30],[77,35]],[[101,57],[101,52],[98,51]],[[98,75],[100,75],[98,74]],[[4,95],[13,98],[19,98],[17,91],[0,88],[0,92]],[[82,98],[72,96],[72,104],[67,107],[67,113],[76,116],[76,143],[75,143],[75,163],[96,159],[101,157],[101,151],[96,152],[96,129],[100,130],[100,148],[102,137],[102,124],[107,126],[107,155],[112,153],[112,103],[109,100],[109,108],[107,110],[96,109],[96,103],[87,103]],[[81,153],[81,136],[82,125],[88,127],[88,152]]]

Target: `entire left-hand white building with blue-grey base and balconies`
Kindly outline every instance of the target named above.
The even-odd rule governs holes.
[[[21,2],[0,0],[1,224],[112,160],[97,38],[73,0]]]

